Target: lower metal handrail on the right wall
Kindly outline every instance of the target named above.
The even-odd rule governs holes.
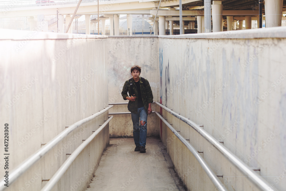
[[[208,164],[204,161],[203,157],[198,153],[198,151],[188,142],[182,135],[180,135],[174,127],[172,127],[157,111],[155,113],[158,115],[158,117],[169,127],[169,129],[180,139],[184,145],[191,151],[191,153],[194,155],[196,160],[200,163],[200,166],[203,168],[203,170],[206,172],[212,183],[215,185],[215,187],[218,190],[227,190],[224,188],[224,184],[219,180],[217,175],[212,171],[212,169],[208,166]]]

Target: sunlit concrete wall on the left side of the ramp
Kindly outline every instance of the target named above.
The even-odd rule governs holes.
[[[80,119],[108,105],[104,40],[95,36],[0,31],[1,151],[9,123],[9,173]],[[40,190],[69,155],[108,118],[70,133],[7,190]],[[107,126],[73,162],[53,190],[85,190],[109,143]],[[3,152],[0,159],[4,176]]]

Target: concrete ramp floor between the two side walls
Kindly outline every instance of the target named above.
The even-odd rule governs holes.
[[[110,138],[86,190],[185,190],[160,138],[147,137],[146,153],[134,148],[133,138]]]

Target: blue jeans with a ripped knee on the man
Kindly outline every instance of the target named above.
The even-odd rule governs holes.
[[[137,114],[131,113],[133,122],[133,138],[136,146],[146,146],[147,116],[145,107],[138,108]],[[145,125],[141,125],[140,122]]]

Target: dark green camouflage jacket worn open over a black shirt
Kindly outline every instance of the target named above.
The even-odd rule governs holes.
[[[145,107],[145,109],[147,111],[148,104],[153,102],[152,90],[151,90],[151,87],[150,87],[150,84],[149,84],[148,80],[145,79],[145,87],[144,87],[144,84],[142,82],[141,77],[139,77],[139,81],[140,81],[140,89],[141,89],[142,101],[143,101],[144,107]],[[128,110],[131,113],[137,113],[137,110],[138,110],[138,107],[137,107],[137,105],[138,105],[138,90],[137,90],[137,87],[135,85],[135,82],[134,82],[133,78],[131,79],[131,82],[129,82],[129,80],[127,80],[124,83],[121,95],[122,95],[124,100],[127,100],[126,97],[128,96],[128,94],[131,97],[131,87],[130,87],[130,85],[132,85],[132,87],[133,87],[133,92],[135,94],[136,99],[135,99],[135,101],[129,101],[129,103],[128,103]],[[128,92],[128,94],[127,94],[127,92]]]

